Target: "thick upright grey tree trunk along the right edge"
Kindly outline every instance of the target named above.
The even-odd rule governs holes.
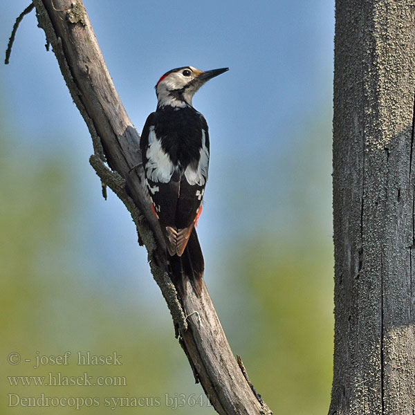
[[[414,11],[336,1],[330,415],[415,414]]]

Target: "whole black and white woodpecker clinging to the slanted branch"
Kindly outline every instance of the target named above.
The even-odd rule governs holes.
[[[140,148],[153,212],[167,246],[172,280],[182,293],[185,278],[201,293],[205,268],[194,229],[208,180],[208,124],[192,106],[194,93],[228,68],[172,69],[156,84],[157,109],[142,130]],[[184,285],[185,286],[185,285]]]

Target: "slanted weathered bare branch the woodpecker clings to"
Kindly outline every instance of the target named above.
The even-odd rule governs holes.
[[[188,284],[187,296],[181,300],[165,272],[163,237],[142,192],[140,138],[113,86],[82,1],[33,3],[39,26],[53,46],[68,89],[91,132],[95,151],[91,165],[133,216],[196,381],[219,414],[272,414],[234,359],[205,284],[201,297]]]

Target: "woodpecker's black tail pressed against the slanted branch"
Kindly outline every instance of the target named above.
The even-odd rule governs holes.
[[[173,255],[169,258],[169,270],[172,282],[176,287],[176,290],[183,297],[186,295],[186,279],[196,294],[200,297],[202,290],[202,276],[205,270],[205,261],[203,260],[203,254],[199,239],[197,238],[196,230],[193,229],[189,237],[189,242],[183,252],[183,255]]]

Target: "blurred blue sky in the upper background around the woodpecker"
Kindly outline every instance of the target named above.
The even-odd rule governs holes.
[[[232,240],[249,239],[252,230],[269,223],[276,234],[286,232],[293,208],[288,189],[295,187],[293,181],[302,181],[296,172],[310,162],[296,159],[293,152],[312,145],[313,125],[324,125],[322,133],[330,145],[333,1],[159,1],[138,6],[136,1],[85,0],[84,4],[139,132],[156,107],[154,84],[163,73],[185,65],[230,68],[194,98],[211,136],[210,181],[199,221],[211,270]],[[3,5],[3,50],[12,23],[27,5],[28,0]],[[131,275],[132,282],[137,269],[148,275],[145,251],[137,248],[129,214],[116,196],[111,194],[107,202],[100,198],[100,183],[88,163],[89,133],[53,53],[47,53],[44,44],[44,33],[32,13],[21,23],[10,64],[0,66],[1,107],[13,131],[10,137],[18,138],[13,139],[17,151],[30,154],[30,160],[22,163],[42,163],[45,156],[67,158],[76,172],[73,192],[79,198],[79,212],[71,227],[82,232],[80,246],[100,241],[88,255],[104,261],[114,273]],[[318,154],[311,163],[320,163]],[[331,213],[330,173],[328,167],[321,190],[327,196],[326,216]],[[299,189],[295,197],[301,201],[304,186]],[[314,208],[319,210],[318,205]],[[331,217],[325,226],[329,240]],[[151,277],[142,284],[156,293],[156,288],[149,288],[154,285]]]

